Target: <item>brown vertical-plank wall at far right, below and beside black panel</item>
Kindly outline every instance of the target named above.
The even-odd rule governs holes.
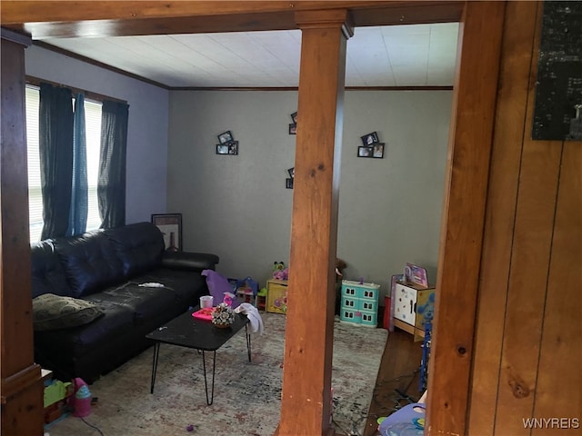
[[[467,434],[580,431],[582,145],[531,140],[542,8],[507,6]]]

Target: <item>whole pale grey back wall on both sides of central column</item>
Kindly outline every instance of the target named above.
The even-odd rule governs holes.
[[[406,262],[435,282],[452,92],[346,92],[337,255],[346,278],[387,291]],[[288,263],[296,92],[170,93],[168,211],[183,213],[184,246],[216,253],[219,272],[264,285]],[[217,155],[232,131],[239,155]],[[356,157],[360,136],[386,143],[384,159]],[[317,144],[314,144],[317,146]]]

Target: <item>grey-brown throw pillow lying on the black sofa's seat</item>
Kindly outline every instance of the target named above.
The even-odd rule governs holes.
[[[35,331],[76,327],[92,322],[103,313],[101,307],[94,302],[54,293],[44,293],[33,299]]]

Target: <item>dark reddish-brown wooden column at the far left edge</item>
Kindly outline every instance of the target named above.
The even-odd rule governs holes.
[[[0,328],[2,434],[43,434],[43,381],[34,363],[28,180],[25,136],[25,47],[29,38],[2,29],[0,147]]]

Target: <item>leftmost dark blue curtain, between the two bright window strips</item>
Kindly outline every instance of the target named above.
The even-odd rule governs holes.
[[[43,193],[41,239],[65,236],[73,178],[73,99],[71,90],[40,85],[39,157]]]

